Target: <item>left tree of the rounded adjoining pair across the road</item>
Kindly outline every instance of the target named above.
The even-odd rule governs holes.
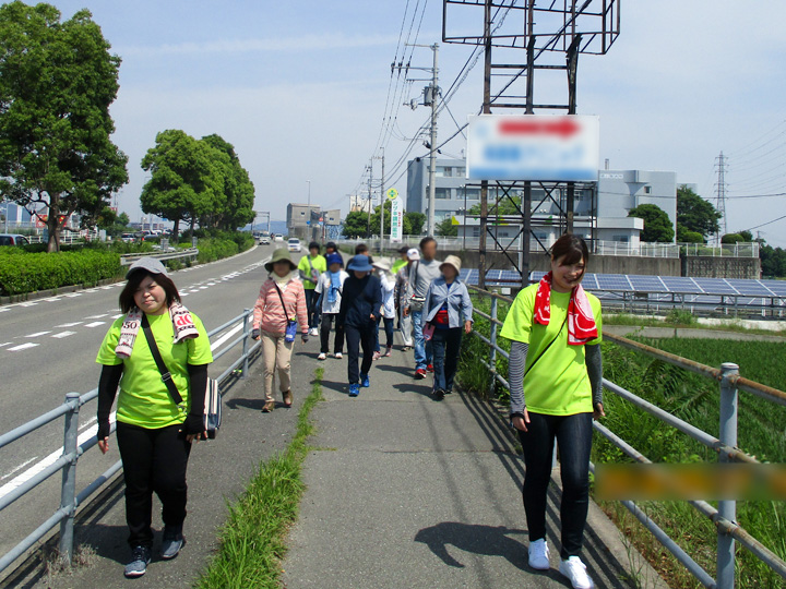
[[[140,196],[142,211],[172,221],[175,236],[180,221],[190,221],[193,233],[201,216],[222,209],[226,167],[215,148],[184,131],[158,133],[142,168],[151,172]]]

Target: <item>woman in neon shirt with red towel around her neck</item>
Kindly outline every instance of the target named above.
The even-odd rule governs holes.
[[[575,589],[593,587],[580,553],[588,507],[592,422],[605,416],[600,301],[581,285],[588,261],[583,239],[559,238],[551,248],[551,272],[519,293],[500,332],[511,340],[510,414],[526,465],[522,493],[529,566],[549,568],[546,492],[557,441],[562,478],[559,572]]]

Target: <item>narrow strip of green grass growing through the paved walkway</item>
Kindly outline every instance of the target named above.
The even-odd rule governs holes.
[[[229,507],[218,538],[221,546],[196,582],[198,589],[279,587],[285,534],[297,519],[305,491],[302,462],[314,431],[309,414],[322,399],[322,372],[320,368],[314,373],[311,394],[300,408],[287,449],[263,462],[243,495]]]

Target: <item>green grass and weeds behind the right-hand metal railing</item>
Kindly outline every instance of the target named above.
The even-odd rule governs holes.
[[[474,303],[480,311],[489,312],[488,299],[474,300]],[[507,310],[507,304],[499,304],[500,321],[503,321]],[[672,318],[674,324],[688,321],[687,317],[677,315]],[[663,326],[664,322],[659,322],[659,325]],[[687,325],[694,326],[690,323]],[[477,317],[475,329],[488,337],[489,322]],[[782,390],[786,389],[786,364],[776,360],[783,357],[783,344],[724,339],[636,339],[711,366],[719,366],[722,362],[736,362],[743,376]],[[509,349],[508,340],[500,338],[498,344],[501,348]],[[719,393],[716,382],[620,348],[610,341],[603,344],[603,353],[606,378],[676,417],[715,436],[718,435]],[[458,373],[462,385],[507,405],[510,398],[508,390],[499,384],[490,388],[489,371],[480,362],[481,358],[488,358],[488,347],[477,337],[464,338]],[[508,364],[501,354],[498,354],[496,364],[498,373],[505,377]],[[604,405],[607,413],[604,424],[653,461],[717,460],[713,450],[677,430],[665,426],[659,420],[608,390],[604,395]],[[786,459],[786,408],[740,393],[738,430],[738,445],[748,454],[767,462],[783,462]],[[631,461],[599,434],[595,435],[593,442],[592,459],[595,462]],[[599,505],[672,589],[700,587],[622,505],[616,502],[600,502]],[[641,502],[640,507],[711,575],[715,575],[716,530],[710,520],[684,502]],[[738,502],[737,520],[765,546],[779,557],[786,558],[786,506],[783,502]],[[738,548],[736,587],[781,587],[782,580],[746,549]]]

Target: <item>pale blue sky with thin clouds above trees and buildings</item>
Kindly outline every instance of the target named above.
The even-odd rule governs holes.
[[[380,177],[381,159],[370,158],[381,146],[386,188],[403,193],[406,159],[427,149],[416,141],[401,158],[428,119],[425,107],[403,103],[427,83],[398,84],[391,62],[406,51],[405,62],[429,67],[428,47],[403,44],[438,43],[446,93],[473,50],[442,43],[439,0],[52,3],[64,19],[88,9],[122,58],[111,115],[114,140],[129,156],[119,204],[132,220],[141,216],[146,177],[140,161],[166,129],[217,133],[234,144],[254,183],[255,208],[273,219],[285,218],[287,203],[306,202],[309,185],[312,203],[346,213],[369,161]],[[512,13],[505,27],[519,23]],[[616,44],[579,60],[577,111],[600,117],[598,165],[608,158],[612,169],[676,171],[678,182],[714,199],[723,151],[728,230],[767,224],[757,229],[761,237],[786,247],[786,218],[775,220],[786,216],[786,196],[751,197],[786,193],[784,21],[779,0],[626,0]],[[481,22],[462,14],[451,22],[460,24]],[[481,74],[483,59],[457,84],[450,113],[440,116],[440,143],[457,130],[451,115],[463,124],[478,111]],[[535,88],[537,97],[564,86],[544,74]],[[464,148],[458,134],[442,152]]]

